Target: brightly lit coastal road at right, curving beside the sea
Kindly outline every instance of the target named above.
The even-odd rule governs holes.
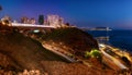
[[[106,45],[100,43],[100,51],[102,53],[105,63],[107,63],[111,68],[128,70],[121,59],[118,59],[118,55],[114,52],[112,53],[112,50],[110,50],[110,48],[108,48]]]

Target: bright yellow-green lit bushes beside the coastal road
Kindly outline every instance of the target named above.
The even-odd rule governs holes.
[[[85,53],[85,58],[100,58],[100,57],[101,57],[101,53],[97,49],[92,49],[90,52],[86,51]]]

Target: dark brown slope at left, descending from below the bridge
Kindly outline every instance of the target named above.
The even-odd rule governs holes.
[[[12,28],[0,29],[0,68],[3,70],[41,70],[41,61],[63,61],[66,59],[44,49],[42,45]]]

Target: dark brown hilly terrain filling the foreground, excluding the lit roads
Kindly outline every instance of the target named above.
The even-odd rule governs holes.
[[[89,63],[87,66],[81,62],[72,63],[45,49],[42,42],[48,43],[51,40],[54,43],[62,42],[72,49],[70,53],[81,58],[86,50],[98,49],[97,41],[86,33],[75,28],[70,28],[69,33],[65,32],[67,29],[58,30],[43,35],[41,39],[36,38],[37,41],[12,27],[0,25],[0,75],[129,75],[127,72],[110,68],[97,58],[85,59]],[[35,36],[38,37],[38,35]]]

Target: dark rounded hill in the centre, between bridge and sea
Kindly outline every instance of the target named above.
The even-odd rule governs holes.
[[[76,55],[84,55],[85,51],[98,49],[97,40],[78,28],[58,28],[43,36],[43,43],[53,45]]]

